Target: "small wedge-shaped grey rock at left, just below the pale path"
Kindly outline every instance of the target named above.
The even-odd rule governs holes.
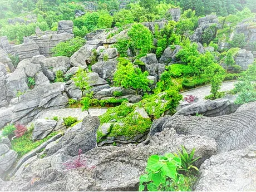
[[[46,119],[37,119],[35,122],[35,128],[32,132],[32,139],[41,140],[49,135],[52,130],[57,125],[57,121],[54,120],[46,120]]]

